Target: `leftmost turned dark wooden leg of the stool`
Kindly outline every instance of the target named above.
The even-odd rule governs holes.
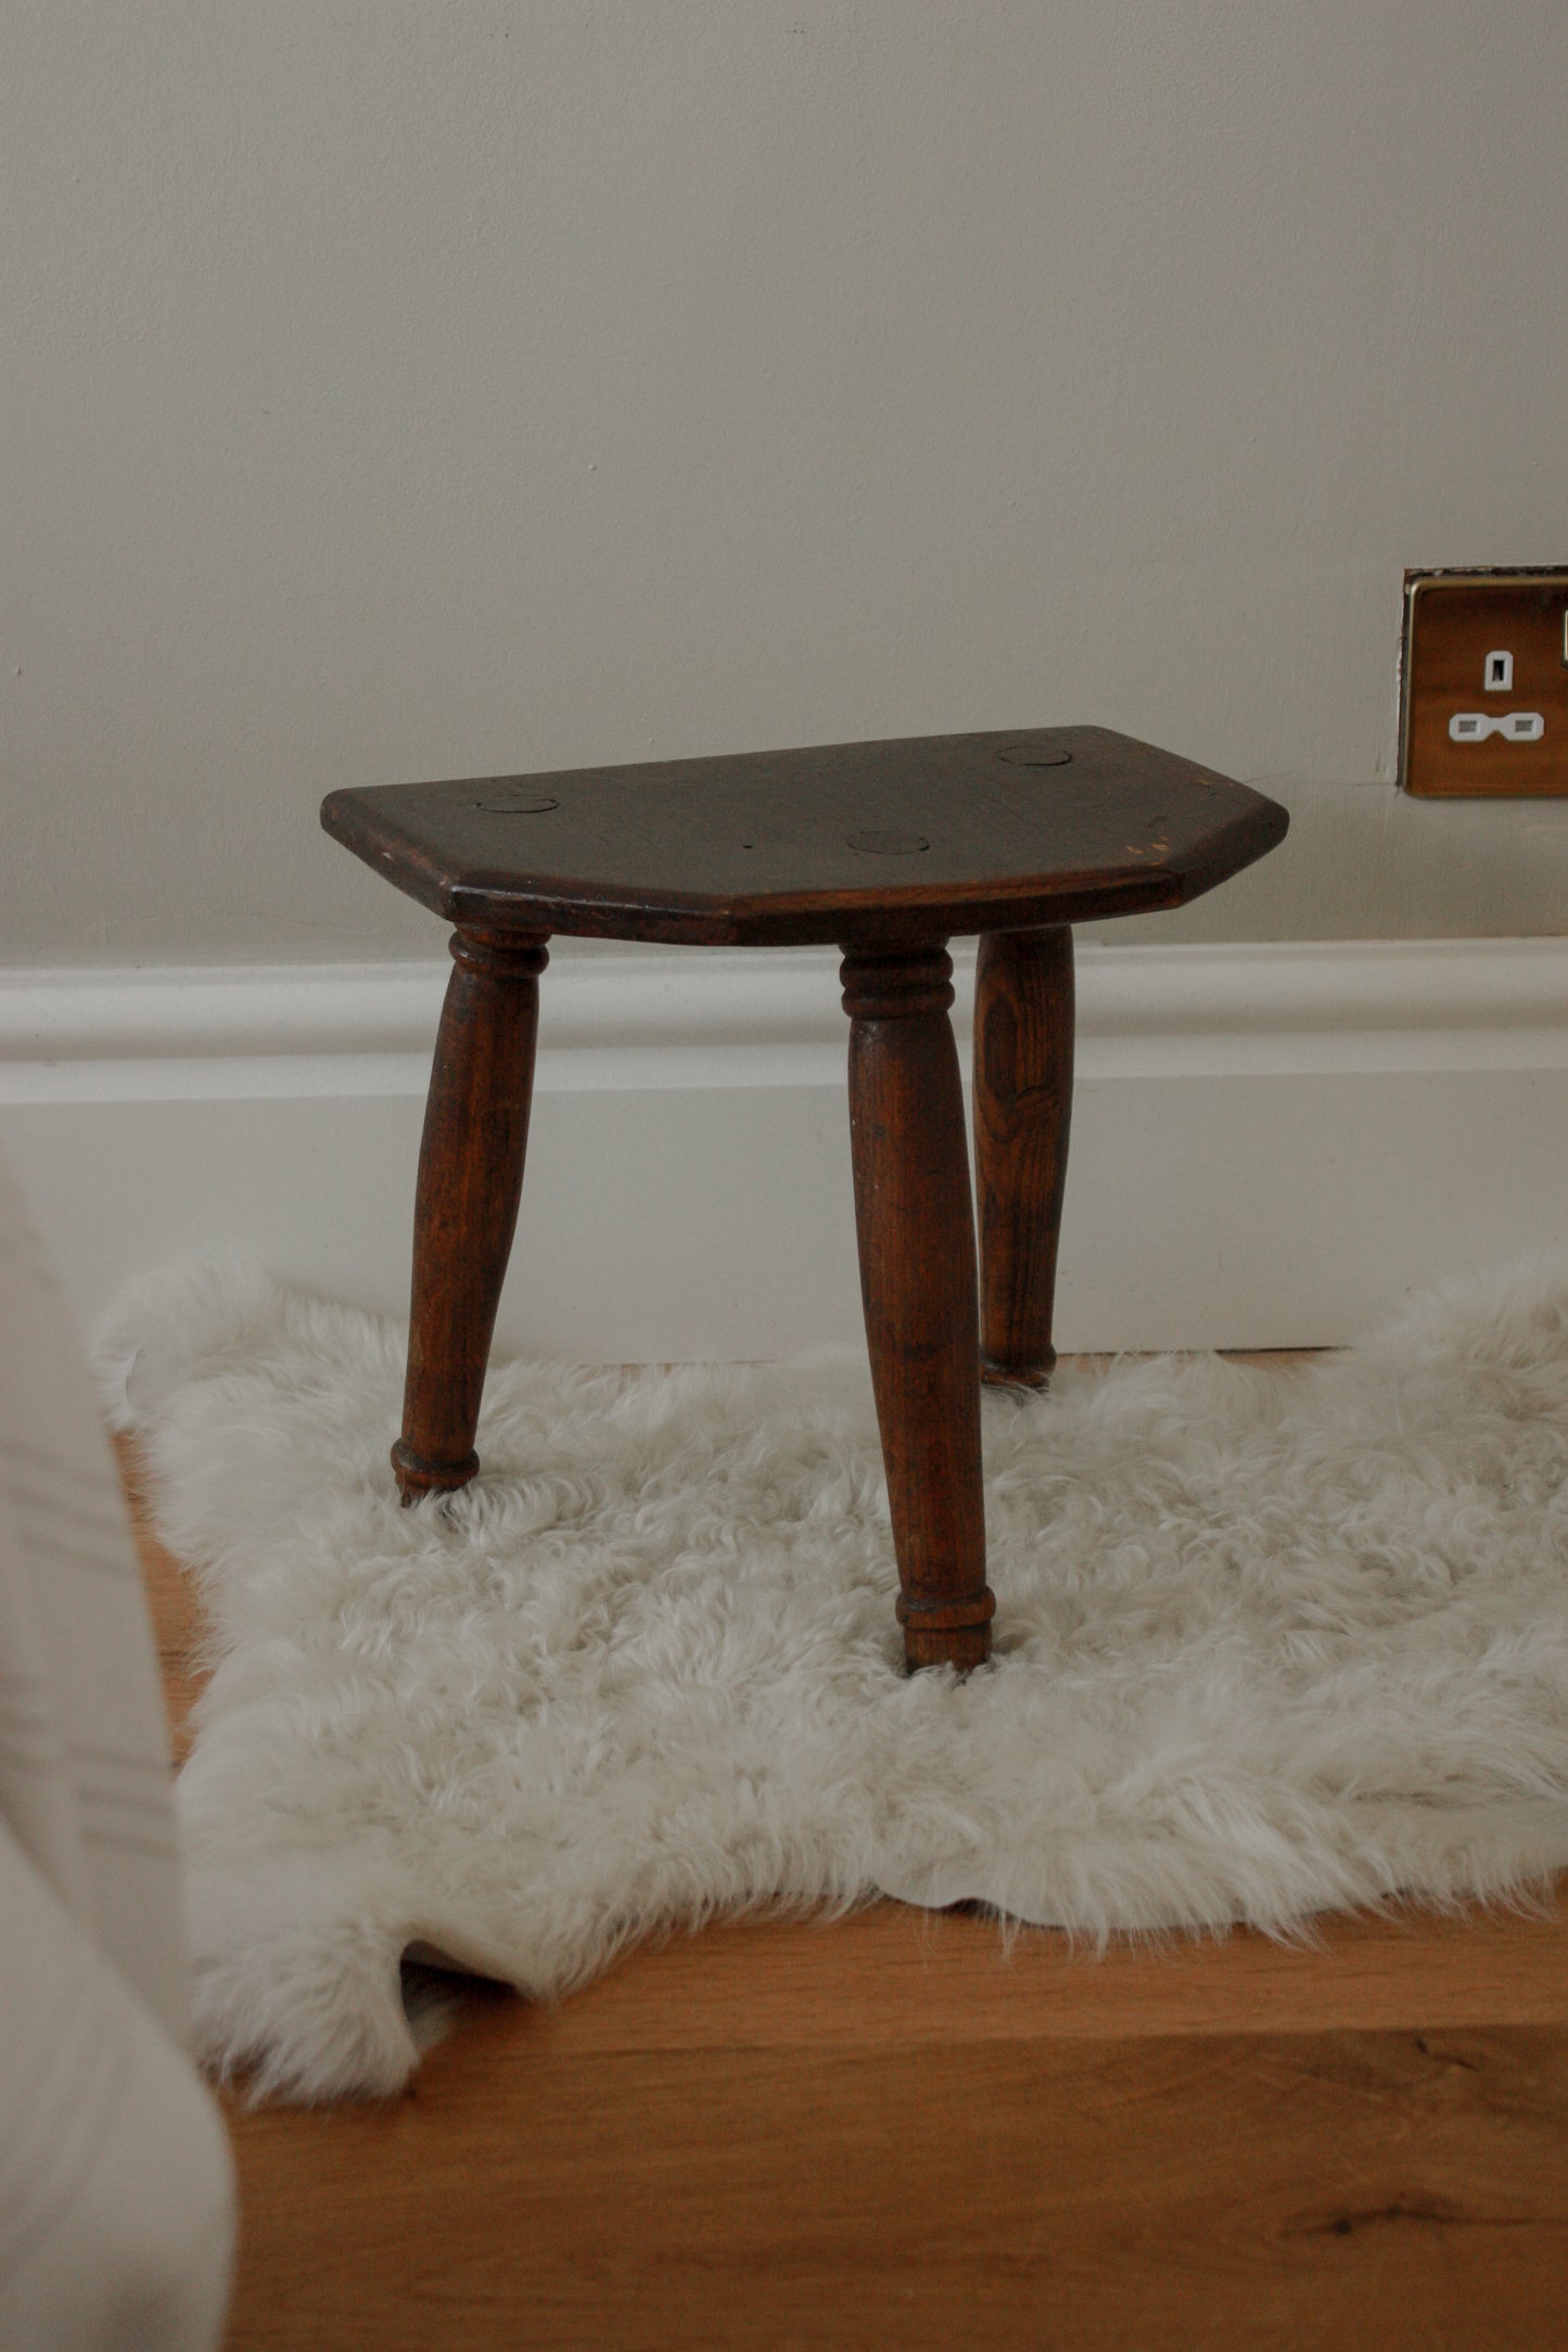
[[[484,1364],[517,1225],[548,934],[451,938],[414,1202],[409,1381],[393,1468],[404,1503],[480,1468]]]

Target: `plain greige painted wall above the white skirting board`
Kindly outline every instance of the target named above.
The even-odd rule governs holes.
[[[9,0],[0,962],[430,955],[339,783],[1098,720],[1159,938],[1563,927],[1399,802],[1406,562],[1568,560],[1561,0]]]

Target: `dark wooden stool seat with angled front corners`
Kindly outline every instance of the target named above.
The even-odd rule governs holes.
[[[329,793],[322,826],[449,922],[877,946],[1185,906],[1286,811],[1105,727],[827,743]]]

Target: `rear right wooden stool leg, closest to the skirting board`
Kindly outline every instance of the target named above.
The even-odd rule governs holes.
[[[1072,931],[987,931],[976,967],[980,1374],[1044,1388],[1072,1122]]]

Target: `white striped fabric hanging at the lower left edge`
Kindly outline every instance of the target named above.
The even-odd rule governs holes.
[[[183,2051],[158,1658],[82,1350],[0,1162],[0,2347],[205,2352],[235,2192]]]

